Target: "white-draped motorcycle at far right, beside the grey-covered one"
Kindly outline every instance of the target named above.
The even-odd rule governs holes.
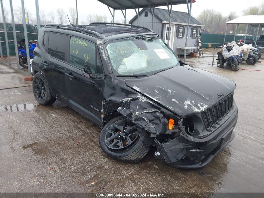
[[[237,43],[241,49],[241,61],[246,60],[246,63],[249,65],[254,65],[255,63],[257,63],[258,58],[256,54],[253,54],[254,50],[256,50],[256,48],[252,47],[252,44],[245,44],[242,43],[241,40]],[[248,51],[248,52],[247,52]],[[260,54],[260,53],[259,53]]]

